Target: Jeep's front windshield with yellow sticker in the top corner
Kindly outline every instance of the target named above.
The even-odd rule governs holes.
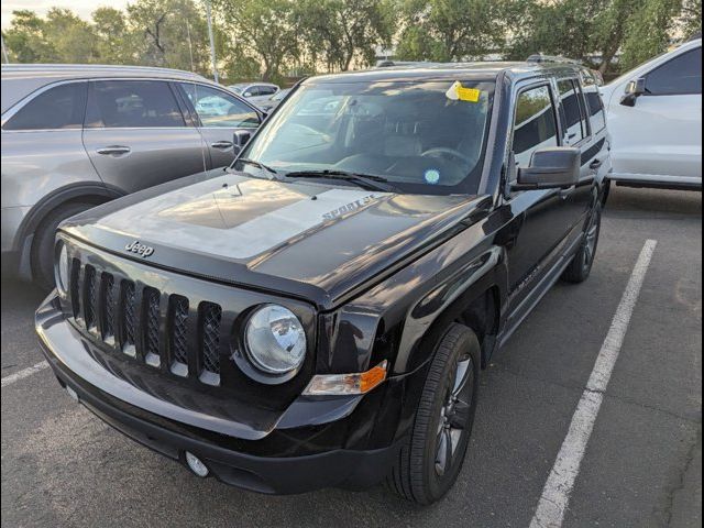
[[[493,96],[488,81],[302,85],[240,157],[280,178],[345,172],[382,177],[403,193],[475,194]],[[272,177],[251,163],[234,168]]]

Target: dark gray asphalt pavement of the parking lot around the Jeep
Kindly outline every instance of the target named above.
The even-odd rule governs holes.
[[[459,482],[429,508],[383,486],[271,497],[197,479],[76,405],[47,369],[15,376],[42,361],[41,294],[3,282],[2,526],[528,527],[648,239],[658,243],[563,526],[698,527],[702,195],[624,188],[591,278],[556,286],[484,372]]]

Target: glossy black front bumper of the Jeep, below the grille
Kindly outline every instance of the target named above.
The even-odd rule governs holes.
[[[190,451],[224,483],[268,494],[302,493],[328,486],[369,487],[386,475],[400,449],[400,441],[374,446],[376,449],[349,449],[345,440],[338,440],[337,447],[333,440],[321,448],[326,442],[321,440],[323,438],[351,436],[350,426],[359,425],[359,417],[354,415],[364,413],[364,409],[356,409],[359,399],[310,402],[310,407],[296,400],[268,435],[249,435],[244,439],[223,431],[240,431],[248,437],[248,431],[256,430],[251,424],[228,425],[212,420],[212,427],[208,427],[207,416],[188,422],[156,414],[154,410],[157,409],[133,405],[135,399],[127,402],[117,397],[114,388],[124,382],[109,371],[102,371],[101,380],[94,375],[87,381],[88,376],[79,374],[90,370],[95,374],[100,365],[87,350],[89,343],[81,341],[64,319],[55,297],[50,296],[40,307],[35,323],[42,351],[59,383],[70,387],[88,409],[128,437],[168,458],[184,462],[185,452]],[[131,398],[140,396],[145,402],[153,398],[150,394],[140,394],[136,387],[132,389]],[[383,393],[380,391],[376,395],[375,406],[384,400]],[[180,413],[183,418],[189,418],[188,409],[180,409]],[[362,429],[373,428],[375,421],[376,414],[371,418],[364,416],[366,425]],[[344,431],[342,437],[341,430]],[[359,428],[355,432],[359,433]],[[267,449],[268,453],[263,452]],[[296,455],[279,455],[287,452]]]

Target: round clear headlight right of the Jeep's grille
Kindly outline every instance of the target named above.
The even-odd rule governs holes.
[[[244,332],[250,360],[268,374],[286,374],[306,358],[306,332],[288,308],[266,305],[250,317]]]

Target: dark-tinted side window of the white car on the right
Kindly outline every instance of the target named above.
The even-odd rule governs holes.
[[[702,94],[702,48],[683,53],[646,75],[647,96]]]

